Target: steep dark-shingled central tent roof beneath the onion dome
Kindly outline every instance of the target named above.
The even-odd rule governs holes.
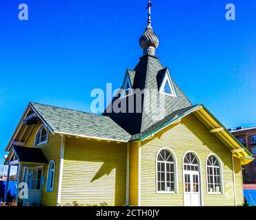
[[[137,109],[137,102],[132,101],[132,99],[135,100],[135,94],[132,94],[121,100],[121,105],[126,107],[126,112],[115,113],[114,111],[107,111],[107,109],[113,109],[112,106],[118,99],[118,97],[115,97],[109,104],[104,115],[112,118],[112,120],[131,135],[137,135],[138,133],[144,133],[151,126],[154,126],[154,124],[163,120],[171,113],[179,109],[191,107],[193,104],[188,100],[177,83],[175,83],[175,80],[173,80],[173,85],[177,97],[166,96],[159,92],[159,85],[161,85],[166,72],[170,74],[168,68],[164,68],[161,65],[159,58],[152,55],[142,56],[133,72],[128,71],[130,80],[132,81],[132,89],[146,91],[145,95],[141,98],[142,111],[128,113],[130,104],[132,104],[132,109]]]

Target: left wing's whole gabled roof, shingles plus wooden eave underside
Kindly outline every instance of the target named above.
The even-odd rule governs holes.
[[[34,121],[25,122],[24,120],[30,120],[30,115],[34,115]],[[41,123],[45,124],[52,135],[59,133],[117,142],[130,140],[130,134],[107,116],[30,102],[6,146],[6,151],[10,151],[13,141],[26,143],[32,131]],[[30,139],[35,140],[35,137]]]

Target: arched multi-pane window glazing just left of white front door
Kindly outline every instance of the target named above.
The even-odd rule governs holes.
[[[157,191],[175,192],[175,161],[168,149],[157,155]]]

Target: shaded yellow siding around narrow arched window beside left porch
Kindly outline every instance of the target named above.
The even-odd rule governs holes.
[[[35,143],[35,134],[37,133],[40,124],[35,126],[30,137],[26,142],[26,146],[34,147]],[[43,166],[43,176],[45,177],[45,183],[42,186],[42,195],[41,195],[41,204],[43,206],[56,206],[57,204],[57,192],[59,185],[59,164],[60,164],[60,153],[61,153],[61,135],[55,134],[52,135],[49,131],[48,143],[42,144],[40,146],[35,146],[41,148],[43,154],[46,155],[48,162],[51,160],[55,161],[55,181],[54,181],[54,190],[52,192],[46,192],[46,183],[47,183],[47,173],[48,173],[48,164]]]

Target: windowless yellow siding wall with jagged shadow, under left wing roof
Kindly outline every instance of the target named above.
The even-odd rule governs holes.
[[[61,205],[124,206],[126,144],[86,138],[66,138]]]

